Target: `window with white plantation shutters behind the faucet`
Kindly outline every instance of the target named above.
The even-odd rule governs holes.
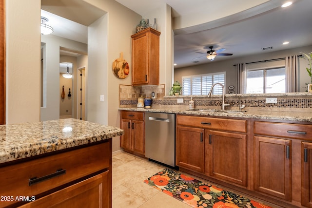
[[[215,83],[225,85],[225,72],[182,76],[182,94],[183,95],[208,95],[211,86]],[[222,87],[216,85],[214,87],[213,95],[222,95]]]

